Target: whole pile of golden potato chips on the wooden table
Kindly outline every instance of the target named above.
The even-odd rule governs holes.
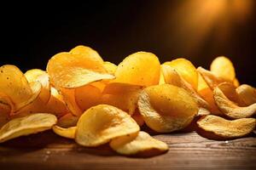
[[[233,139],[253,132],[255,113],[256,89],[239,84],[226,57],[214,59],[210,71],[187,59],[160,64],[147,52],[114,65],[78,46],[55,54],[46,71],[0,67],[0,143],[52,128],[86,147],[160,154],[168,145],[141,127],[171,133],[197,120],[201,130]]]

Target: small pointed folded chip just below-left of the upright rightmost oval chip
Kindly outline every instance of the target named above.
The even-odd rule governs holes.
[[[197,68],[197,71],[201,74],[201,77],[207,82],[207,85],[212,88],[212,90],[218,86],[218,84],[222,82],[227,82],[222,77],[217,77],[211,71],[207,71],[206,69],[202,68],[201,66]]]

